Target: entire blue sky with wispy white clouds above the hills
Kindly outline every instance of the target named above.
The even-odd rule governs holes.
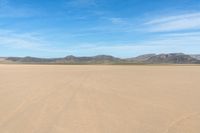
[[[0,56],[200,54],[200,0],[0,0]]]

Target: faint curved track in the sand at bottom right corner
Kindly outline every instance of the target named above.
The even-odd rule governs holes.
[[[183,117],[181,117],[179,119],[176,119],[176,120],[174,120],[174,121],[172,121],[170,123],[169,127],[163,133],[169,133],[170,129],[172,129],[173,127],[177,126],[181,122],[184,122],[185,120],[189,120],[191,117],[199,116],[199,115],[200,115],[200,113],[198,112],[198,113],[189,114],[189,115],[183,116]]]

